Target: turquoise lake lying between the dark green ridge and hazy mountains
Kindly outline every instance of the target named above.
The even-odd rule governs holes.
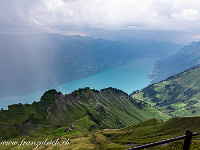
[[[136,59],[124,65],[109,68],[79,80],[67,82],[55,87],[55,89],[63,94],[68,94],[84,87],[90,87],[91,89],[96,90],[114,87],[130,94],[131,92],[140,90],[150,84],[150,79],[148,79],[147,76],[151,74],[156,60],[157,59],[152,58]],[[39,101],[46,90],[23,96],[0,98],[0,108],[7,109],[7,106],[10,104]]]

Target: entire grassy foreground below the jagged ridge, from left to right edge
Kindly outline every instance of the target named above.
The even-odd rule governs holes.
[[[59,142],[66,142],[67,145],[38,145],[37,149],[82,149],[82,150],[124,150],[134,145],[143,145],[164,139],[169,139],[185,134],[186,129],[192,132],[200,133],[200,117],[182,117],[172,118],[166,122],[159,119],[150,119],[140,123],[133,124],[121,129],[103,129],[99,130],[98,125],[91,120],[89,116],[83,117],[67,126],[73,126],[74,130],[66,131],[67,126],[44,126],[37,130],[29,130],[28,134],[12,138],[7,141],[17,141],[20,143],[24,138],[26,142],[48,141],[59,139]],[[0,127],[1,129],[1,127]],[[1,130],[0,130],[1,131]],[[199,136],[193,137],[191,150],[200,149]],[[0,141],[5,141],[0,139]],[[37,145],[24,144],[19,145],[0,144],[0,149],[34,149]],[[157,146],[156,149],[181,149],[183,141],[172,142],[167,146]]]

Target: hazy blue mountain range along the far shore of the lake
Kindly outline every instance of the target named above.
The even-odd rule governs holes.
[[[135,58],[163,58],[180,45],[59,34],[0,35],[0,96],[50,89]]]

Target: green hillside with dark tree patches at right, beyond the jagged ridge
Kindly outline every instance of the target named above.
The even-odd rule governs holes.
[[[199,116],[200,67],[133,92],[132,97],[172,116]]]

